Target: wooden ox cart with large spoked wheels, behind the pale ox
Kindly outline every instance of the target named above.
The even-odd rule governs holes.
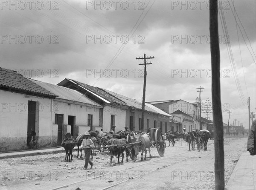
[[[165,144],[165,140],[163,139],[163,135],[162,135],[162,132],[161,132],[160,128],[152,128],[152,129],[140,130],[140,132],[141,131],[146,131],[147,133],[149,133],[148,135],[151,138],[151,142],[150,143],[151,144],[154,144],[154,143],[156,144],[158,154],[161,157],[163,157],[166,144]],[[139,132],[139,131],[135,131],[135,132]],[[135,134],[135,132],[131,132],[130,134],[132,134],[132,133]],[[130,158],[132,160],[134,160],[134,157],[135,157],[135,151],[134,151],[133,146],[132,146],[132,144],[134,144],[135,141],[136,141],[136,138],[128,139],[128,144],[130,144],[131,146],[129,146],[127,148],[129,150]]]

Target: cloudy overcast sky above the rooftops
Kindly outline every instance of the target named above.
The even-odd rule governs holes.
[[[202,102],[212,99],[209,1],[1,0],[0,17],[0,65],[26,77],[71,78],[142,101],[136,58],[145,53],[154,56],[146,101],[194,102],[199,86]],[[218,18],[223,121],[230,111],[230,124],[248,128],[249,96],[256,111],[256,1],[222,0]]]

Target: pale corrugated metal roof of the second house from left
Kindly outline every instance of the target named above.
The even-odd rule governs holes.
[[[98,107],[102,107],[100,104],[97,104],[96,102],[90,100],[89,98],[82,95],[80,92],[78,92],[76,90],[69,89],[69,88],[66,88],[66,87],[63,87],[63,86],[58,86],[58,85],[51,84],[51,83],[35,81],[35,80],[32,80],[32,79],[29,79],[29,80],[31,80],[34,83],[42,86],[43,88],[49,90],[50,92],[58,95],[58,98],[56,98],[56,99],[76,101],[76,102],[81,102],[81,103],[85,103],[85,104],[90,104],[90,105],[95,105],[95,106],[98,106]]]

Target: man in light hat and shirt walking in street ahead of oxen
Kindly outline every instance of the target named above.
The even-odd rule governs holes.
[[[94,148],[94,143],[93,141],[89,138],[90,133],[87,131],[84,133],[84,140],[81,144],[81,149],[84,149],[84,157],[85,157],[85,164],[84,164],[84,168],[85,170],[87,170],[88,167],[88,163],[90,164],[90,168],[93,168],[93,162],[90,161],[90,153],[92,148]]]

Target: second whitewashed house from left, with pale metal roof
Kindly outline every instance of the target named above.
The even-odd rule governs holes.
[[[52,142],[61,144],[64,134],[73,136],[100,127],[100,109],[102,106],[82,95],[80,92],[51,83],[35,81],[39,86],[58,95],[52,100]],[[98,129],[99,130],[99,129]]]

